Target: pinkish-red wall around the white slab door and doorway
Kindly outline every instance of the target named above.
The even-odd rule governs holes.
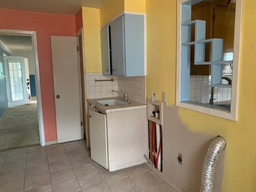
[[[0,29],[36,31],[45,140],[56,140],[50,36],[75,36],[75,16],[0,9]]]

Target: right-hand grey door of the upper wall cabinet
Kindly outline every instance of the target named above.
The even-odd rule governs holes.
[[[110,24],[112,75],[124,76],[124,17]]]

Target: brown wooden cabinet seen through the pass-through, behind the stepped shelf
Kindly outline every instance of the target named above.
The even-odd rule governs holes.
[[[201,2],[191,7],[191,20],[206,21],[206,39],[223,39],[223,57],[224,60],[233,60],[234,50],[234,24],[235,11],[217,6],[209,2]],[[194,41],[195,29],[191,28],[191,42]],[[191,75],[210,75],[210,65],[194,64],[194,47],[190,50],[190,74]],[[205,45],[205,61],[211,59],[210,44]],[[223,64],[222,73],[232,73],[230,64]]]

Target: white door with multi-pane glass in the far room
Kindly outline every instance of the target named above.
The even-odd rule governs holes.
[[[4,56],[8,106],[28,103],[24,57]]]

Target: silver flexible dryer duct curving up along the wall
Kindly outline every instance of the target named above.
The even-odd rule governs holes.
[[[213,192],[214,172],[222,151],[226,148],[226,140],[216,137],[210,144],[202,168],[200,192]]]

